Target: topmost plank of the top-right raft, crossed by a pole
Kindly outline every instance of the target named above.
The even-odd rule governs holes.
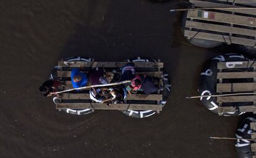
[[[241,6],[233,6],[231,4],[198,1],[198,0],[190,0],[189,2],[191,2],[192,4],[194,4],[197,7],[241,7]],[[242,14],[256,15],[255,10],[249,10],[249,9],[216,9],[216,10],[225,10],[225,11],[229,11],[229,12],[238,12],[238,13],[242,13]]]

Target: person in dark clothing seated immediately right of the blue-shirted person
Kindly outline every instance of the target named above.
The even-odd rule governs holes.
[[[91,69],[88,72],[88,83],[90,85],[106,85],[111,83],[113,77],[113,73],[105,73],[103,69]]]

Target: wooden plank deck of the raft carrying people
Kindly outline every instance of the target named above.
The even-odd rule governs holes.
[[[103,67],[105,70],[115,69],[117,72],[121,71],[121,67],[126,65],[127,62],[84,62],[72,61],[66,62],[60,60],[58,62],[58,78],[64,80],[67,89],[72,88],[70,81],[70,72],[74,67],[82,67],[82,72],[95,67]],[[160,78],[160,84],[163,84],[163,62],[134,62],[137,74],[149,75],[151,77]],[[163,91],[160,90],[155,94],[131,94],[127,96],[121,104],[106,104],[96,103],[90,99],[88,90],[72,91],[70,93],[58,94],[56,109],[104,109],[104,110],[156,110],[158,113],[162,110],[161,101],[163,99]]]

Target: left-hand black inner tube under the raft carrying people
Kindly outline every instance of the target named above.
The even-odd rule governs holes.
[[[85,58],[85,57],[69,57],[67,59],[64,59],[65,61],[87,61],[87,62],[92,62],[93,59],[89,58]],[[57,77],[57,71],[60,70],[60,68],[58,66],[54,67],[51,75],[50,75],[50,78],[53,79],[53,78],[56,78],[58,79]],[[57,97],[54,97],[53,98],[53,102],[54,104],[56,104],[58,102],[58,99]],[[67,112],[68,114],[72,114],[72,115],[86,115],[86,114],[90,114],[92,112],[92,109],[61,109],[62,111],[64,112]]]

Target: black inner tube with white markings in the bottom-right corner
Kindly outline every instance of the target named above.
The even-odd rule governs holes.
[[[256,115],[245,118],[236,131],[236,138],[239,138],[236,141],[236,151],[239,158],[252,158],[254,156],[254,152],[250,149],[251,142],[244,139],[251,139],[250,134],[252,130],[250,129],[250,123],[255,121]]]

